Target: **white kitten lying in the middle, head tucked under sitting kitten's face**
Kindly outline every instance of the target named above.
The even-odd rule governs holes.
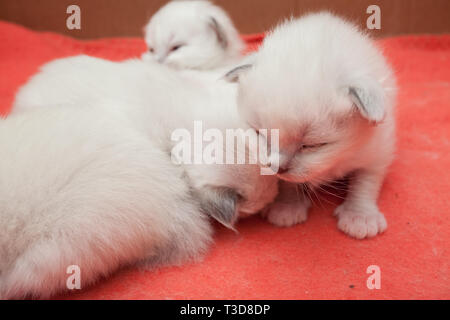
[[[44,65],[20,88],[12,113],[45,106],[101,107],[130,119],[136,129],[169,153],[174,144],[172,132],[187,128],[193,133],[196,120],[201,120],[205,129],[221,132],[248,128],[238,115],[236,95],[236,84],[217,80],[210,73],[180,72],[140,60],[117,63],[77,56]],[[266,204],[276,193],[274,177],[261,176],[256,165],[199,167],[202,169],[188,169],[205,175],[205,179],[193,181],[196,185],[203,181],[203,185],[233,187],[249,200],[265,190]],[[237,173],[239,177],[235,177]]]

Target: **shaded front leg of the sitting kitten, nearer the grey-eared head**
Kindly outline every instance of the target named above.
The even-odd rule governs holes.
[[[264,212],[267,220],[279,227],[290,227],[306,221],[311,201],[296,184],[279,181],[279,194]]]

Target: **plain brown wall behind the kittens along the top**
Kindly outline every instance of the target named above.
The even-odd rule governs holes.
[[[141,36],[142,27],[167,0],[0,0],[0,19],[77,38]],[[365,26],[366,8],[381,8],[375,36],[450,32],[450,0],[217,0],[241,33],[269,29],[291,14],[328,9]],[[66,8],[81,8],[81,30],[66,28]]]

